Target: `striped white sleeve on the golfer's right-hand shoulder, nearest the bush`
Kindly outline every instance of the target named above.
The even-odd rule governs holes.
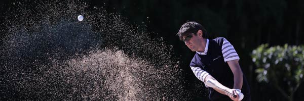
[[[233,45],[225,38],[222,45],[222,54],[225,62],[232,60],[240,60],[240,57]]]

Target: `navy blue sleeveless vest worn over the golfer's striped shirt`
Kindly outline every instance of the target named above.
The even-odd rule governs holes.
[[[213,40],[209,40],[208,53],[207,55],[195,54],[190,66],[200,67],[204,71],[207,71],[211,76],[213,76],[222,85],[233,88],[234,86],[234,76],[227,63],[224,62],[221,47],[223,44],[223,37],[217,37]],[[245,97],[250,97],[249,86],[245,76],[243,75],[243,86],[242,93]],[[228,96],[223,95],[213,88],[209,87],[209,99],[218,100],[223,98],[223,100],[230,99]]]

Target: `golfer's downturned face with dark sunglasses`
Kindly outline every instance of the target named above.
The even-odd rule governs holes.
[[[202,37],[199,34],[195,35],[194,33],[192,33],[187,36],[183,36],[183,41],[185,42],[187,47],[191,49],[191,51],[195,52],[198,50],[201,44],[199,41],[200,38]]]

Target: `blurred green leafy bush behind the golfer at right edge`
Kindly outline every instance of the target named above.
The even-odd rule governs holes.
[[[274,85],[286,98],[292,100],[293,93],[303,81],[303,49],[303,45],[258,46],[251,54],[257,66],[257,81]]]

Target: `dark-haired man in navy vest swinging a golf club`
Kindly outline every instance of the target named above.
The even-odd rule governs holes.
[[[207,31],[197,22],[184,23],[177,35],[191,51],[196,52],[190,63],[195,76],[204,83],[213,81],[221,89],[236,95],[209,87],[210,100],[239,100],[240,92],[244,94],[242,100],[251,100],[249,85],[238,62],[240,58],[227,39],[217,37],[209,40]]]

